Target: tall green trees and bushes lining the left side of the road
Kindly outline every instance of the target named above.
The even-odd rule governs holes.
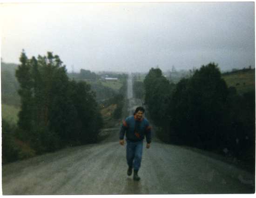
[[[19,120],[2,121],[3,162],[96,142],[103,119],[90,84],[70,80],[52,52],[28,59],[22,51],[20,63]]]

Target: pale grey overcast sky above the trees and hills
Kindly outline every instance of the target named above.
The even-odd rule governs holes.
[[[254,2],[1,4],[1,58],[58,55],[68,72],[255,67]]]

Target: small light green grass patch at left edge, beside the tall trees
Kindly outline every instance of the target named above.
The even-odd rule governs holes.
[[[18,121],[19,109],[3,103],[1,104],[1,106],[2,119],[5,119],[11,124],[16,124]]]

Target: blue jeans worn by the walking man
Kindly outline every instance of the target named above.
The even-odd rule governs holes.
[[[141,167],[143,141],[128,141],[126,146],[126,159],[129,167],[139,170]]]

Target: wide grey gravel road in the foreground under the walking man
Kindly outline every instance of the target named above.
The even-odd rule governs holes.
[[[130,100],[134,102],[133,100]],[[136,103],[136,102],[135,102]],[[130,104],[131,111],[136,104]],[[137,104],[138,105],[138,104]],[[154,128],[152,128],[154,131]],[[4,195],[254,193],[255,175],[153,135],[140,181],[128,177],[119,129],[99,144],[71,147],[2,166]]]

